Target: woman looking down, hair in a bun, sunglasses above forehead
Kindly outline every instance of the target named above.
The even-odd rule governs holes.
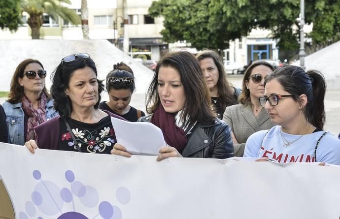
[[[136,122],[143,111],[130,106],[132,93],[135,91],[135,78],[132,69],[125,63],[113,65],[113,70],[106,76],[106,91],[109,101],[101,102],[99,108],[117,114],[130,122]]]

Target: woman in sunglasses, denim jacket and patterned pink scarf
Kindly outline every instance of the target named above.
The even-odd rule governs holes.
[[[12,77],[8,99],[3,103],[9,143],[24,145],[34,139],[34,127],[57,116],[45,87],[46,71],[33,59],[21,62]]]

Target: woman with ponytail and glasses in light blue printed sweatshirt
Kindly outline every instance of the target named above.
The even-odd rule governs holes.
[[[244,156],[340,165],[340,140],[323,130],[325,91],[319,71],[277,68],[266,78],[265,94],[259,98],[275,126],[252,134]]]

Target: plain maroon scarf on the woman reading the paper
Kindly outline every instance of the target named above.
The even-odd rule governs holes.
[[[171,113],[167,113],[162,105],[159,105],[154,112],[151,123],[162,130],[168,145],[177,149],[179,153],[182,152],[187,144],[187,138],[183,129],[175,124],[174,116]]]

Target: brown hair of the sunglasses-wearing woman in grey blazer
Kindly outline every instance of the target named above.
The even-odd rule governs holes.
[[[238,97],[238,101],[240,103],[242,103],[243,105],[250,104],[250,92],[247,89],[246,83],[249,80],[249,77],[250,77],[253,69],[256,66],[259,66],[259,65],[264,65],[264,66],[267,66],[270,69],[272,69],[272,71],[274,70],[274,67],[270,63],[267,63],[265,61],[255,61],[251,65],[249,65],[249,67],[244,72],[244,77],[243,77],[243,80],[242,80],[242,93]]]

